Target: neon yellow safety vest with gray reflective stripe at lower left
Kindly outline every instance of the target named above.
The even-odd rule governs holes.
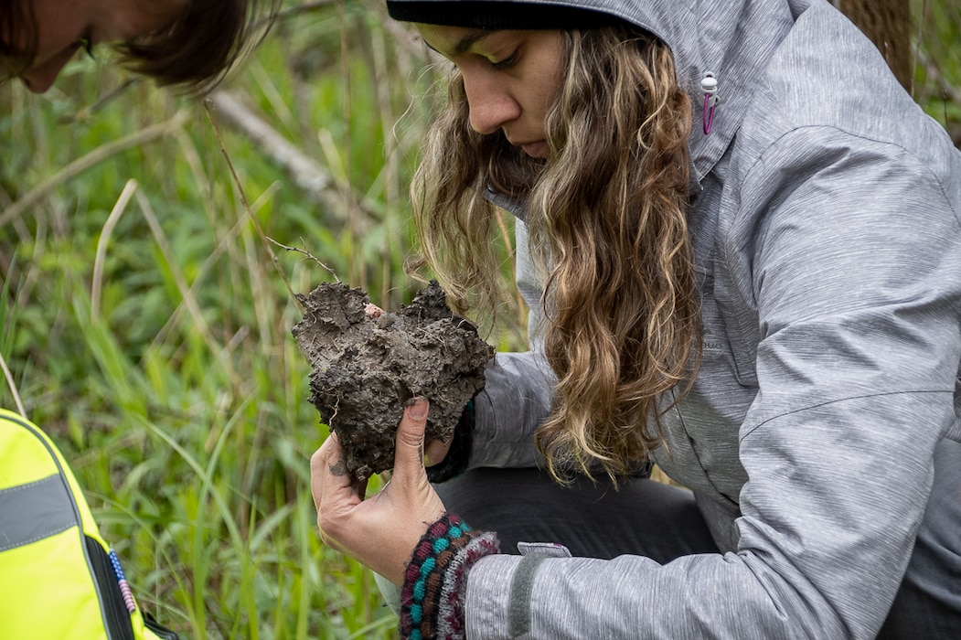
[[[178,640],[140,611],[62,454],[0,409],[0,638]]]

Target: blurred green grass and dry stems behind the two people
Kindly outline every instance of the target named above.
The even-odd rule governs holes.
[[[961,0],[916,15],[915,96],[961,142]],[[189,637],[394,635],[370,575],[315,532],[327,430],[291,291],[332,275],[266,238],[409,300],[424,54],[378,0],[290,0],[209,102],[106,50],[47,95],[0,87],[0,405],[62,446],[140,599]],[[523,313],[502,317],[517,348]]]

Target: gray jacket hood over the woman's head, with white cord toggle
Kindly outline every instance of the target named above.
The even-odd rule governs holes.
[[[436,3],[439,8],[465,1],[469,0],[390,0],[389,4]],[[663,40],[674,54],[678,83],[691,96],[692,181],[700,183],[737,132],[778,44],[796,17],[814,2],[818,0],[492,0],[490,5],[545,5],[606,13]],[[702,80],[707,74],[716,79],[718,99],[709,134],[702,127]]]

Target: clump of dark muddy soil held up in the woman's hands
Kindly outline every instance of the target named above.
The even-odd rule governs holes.
[[[393,467],[397,424],[417,396],[431,402],[427,439],[454,434],[494,350],[448,308],[438,283],[396,313],[342,283],[296,297],[305,312],[293,334],[313,367],[310,403],[336,432],[346,473],[363,480]]]

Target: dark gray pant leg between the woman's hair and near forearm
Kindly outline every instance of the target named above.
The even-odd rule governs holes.
[[[537,469],[472,469],[434,485],[448,510],[472,528],[497,531],[501,551],[518,542],[554,542],[571,554],[609,559],[646,555],[657,562],[716,553],[691,493],[654,480],[579,478],[570,487]]]

